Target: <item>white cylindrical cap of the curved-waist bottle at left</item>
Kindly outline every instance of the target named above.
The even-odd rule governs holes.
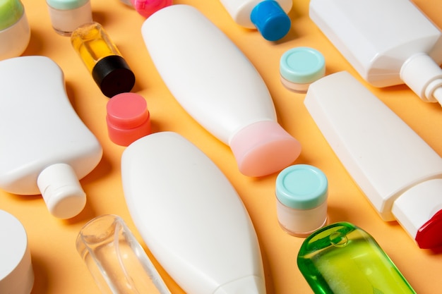
[[[68,164],[48,166],[38,176],[37,185],[49,212],[59,219],[70,219],[85,207],[85,192]]]

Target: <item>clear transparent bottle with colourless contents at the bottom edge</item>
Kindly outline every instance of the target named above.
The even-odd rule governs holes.
[[[76,247],[102,293],[170,294],[121,217],[92,219],[78,233]]]

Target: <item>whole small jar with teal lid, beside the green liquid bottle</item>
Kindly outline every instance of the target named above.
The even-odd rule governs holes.
[[[305,237],[327,223],[328,180],[308,164],[283,169],[276,178],[277,219],[290,235]]]

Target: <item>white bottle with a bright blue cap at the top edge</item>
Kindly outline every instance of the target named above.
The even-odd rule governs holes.
[[[292,0],[220,0],[235,23],[246,28],[256,28],[264,39],[277,41],[285,37],[292,21],[287,13]]]

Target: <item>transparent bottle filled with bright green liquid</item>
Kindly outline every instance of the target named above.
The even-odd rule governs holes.
[[[297,263],[316,294],[416,294],[376,240],[351,223],[311,234]]]

